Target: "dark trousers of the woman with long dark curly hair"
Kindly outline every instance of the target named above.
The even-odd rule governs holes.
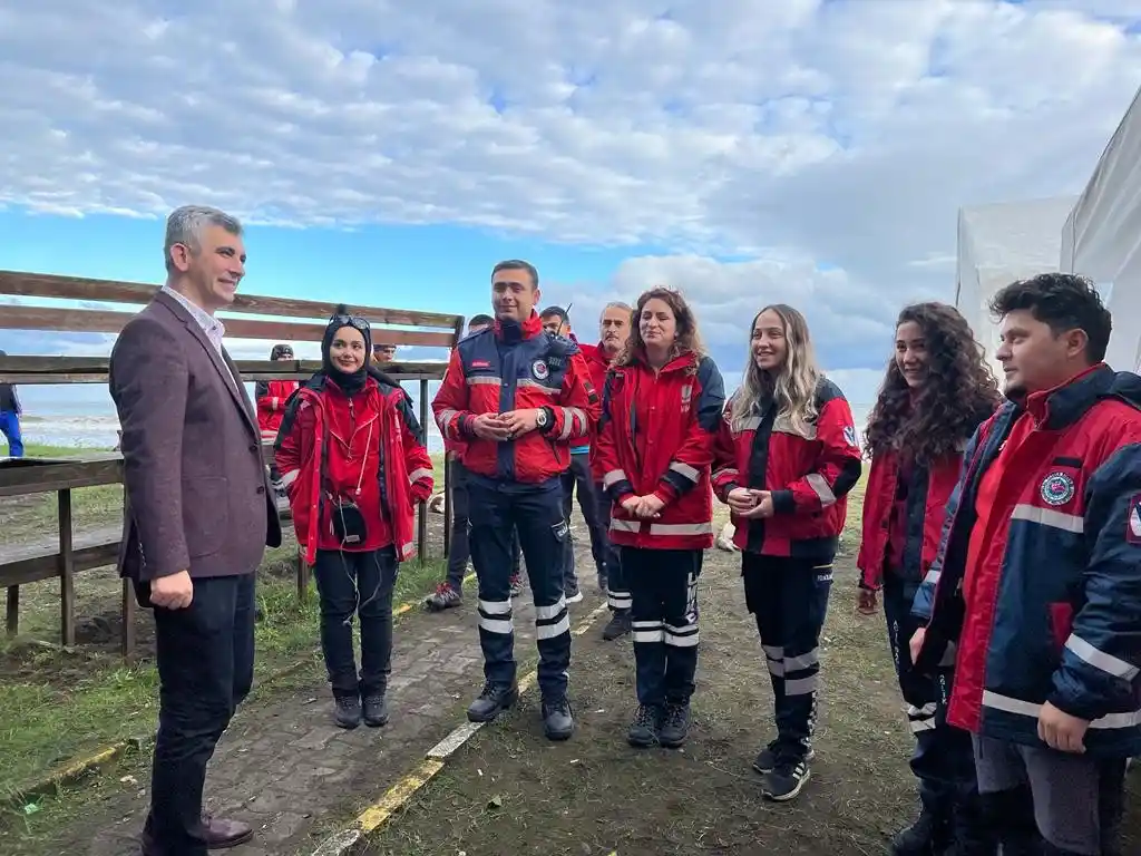
[[[915,735],[912,773],[920,781],[920,799],[937,816],[958,816],[962,826],[971,819],[977,803],[974,753],[971,735],[947,725],[952,670],[934,677],[916,672],[912,665],[911,639],[921,627],[912,615],[917,583],[891,571],[883,576],[883,615],[888,643],[906,703],[907,727]]]

